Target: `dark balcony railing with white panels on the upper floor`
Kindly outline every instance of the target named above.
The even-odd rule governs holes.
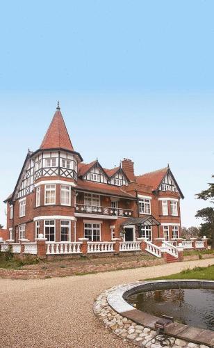
[[[130,217],[133,215],[133,210],[122,209],[122,208],[112,208],[112,207],[99,207],[97,205],[85,205],[76,204],[76,212],[83,214],[100,214],[106,216],[118,216],[118,217]]]

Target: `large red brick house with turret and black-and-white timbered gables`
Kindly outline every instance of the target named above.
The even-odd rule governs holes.
[[[169,168],[135,176],[131,159],[106,169],[83,163],[74,151],[60,107],[40,148],[28,152],[13,194],[6,199],[9,239],[34,242],[178,239],[180,199]]]

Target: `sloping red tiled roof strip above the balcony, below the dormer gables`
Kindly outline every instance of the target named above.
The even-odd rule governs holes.
[[[91,182],[87,180],[77,180],[76,189],[81,189],[85,191],[93,191],[97,193],[106,193],[113,196],[120,196],[125,198],[135,198],[131,193],[127,193],[120,187],[115,187],[110,184],[101,184],[99,182]]]

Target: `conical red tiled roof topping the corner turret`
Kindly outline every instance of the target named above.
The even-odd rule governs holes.
[[[64,148],[74,151],[72,142],[69,138],[63,115],[60,109],[56,110],[49,129],[44,136],[40,149]]]

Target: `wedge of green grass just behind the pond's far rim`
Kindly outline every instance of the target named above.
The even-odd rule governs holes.
[[[214,280],[214,265],[208,267],[195,267],[193,269],[183,269],[180,273],[170,274],[170,276],[150,278],[147,280],[159,279],[206,279]]]

